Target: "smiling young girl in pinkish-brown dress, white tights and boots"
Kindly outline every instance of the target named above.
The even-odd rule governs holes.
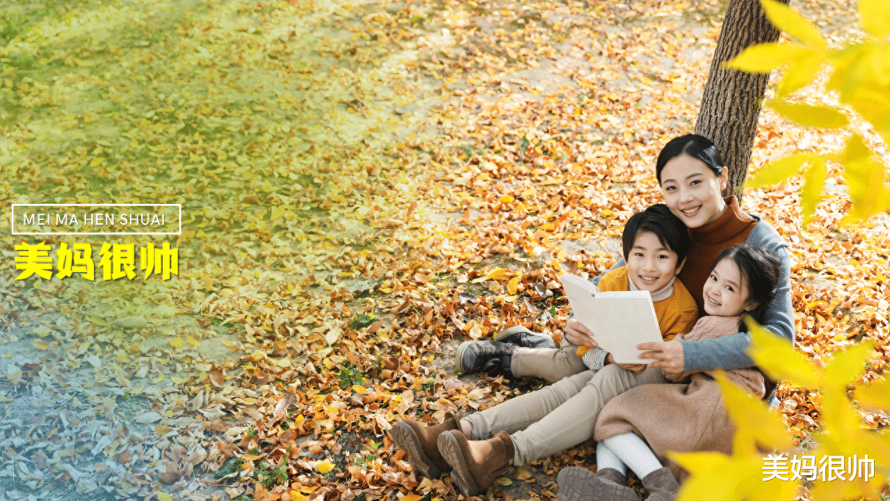
[[[738,333],[745,313],[763,322],[779,274],[779,260],[762,248],[740,244],[721,252],[703,288],[708,316],[699,319],[684,341],[707,343]],[[672,501],[679,485],[671,470],[661,466],[668,450],[731,454],[734,428],[710,373],[680,374],[669,379],[684,384],[646,384],[613,398],[595,426],[598,471],[563,469],[558,476],[562,494],[572,501],[636,501],[634,490],[623,485],[629,466],[649,490],[649,501]],[[764,376],[755,368],[732,369],[726,375],[764,397]]]

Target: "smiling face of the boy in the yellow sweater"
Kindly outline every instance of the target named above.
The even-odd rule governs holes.
[[[641,291],[656,292],[680,273],[676,252],[651,232],[639,232],[627,255],[627,275]]]

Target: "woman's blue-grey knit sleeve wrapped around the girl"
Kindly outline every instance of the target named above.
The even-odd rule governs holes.
[[[791,306],[791,263],[788,256],[788,244],[781,236],[761,221],[746,243],[755,247],[763,247],[775,254],[780,262],[779,284],[766,308],[764,326],[781,337],[794,342],[794,310]],[[700,341],[680,341],[683,343],[684,372],[708,369],[740,369],[756,365],[748,357],[750,338],[748,333],[735,333],[722,338]]]

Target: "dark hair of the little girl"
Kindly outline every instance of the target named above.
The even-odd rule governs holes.
[[[724,259],[732,259],[732,262],[739,267],[741,279],[748,283],[748,300],[757,302],[757,307],[751,311],[751,316],[757,323],[763,324],[766,307],[773,299],[776,285],[779,283],[781,269],[779,259],[769,250],[751,247],[744,243],[720,252],[714,261],[714,267]]]

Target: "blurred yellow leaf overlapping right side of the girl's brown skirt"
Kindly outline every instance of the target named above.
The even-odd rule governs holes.
[[[722,371],[715,375],[715,379],[723,390],[726,412],[735,423],[737,433],[746,433],[771,449],[794,447],[788,426],[782,423],[780,416],[773,413],[764,400],[741,390]]]

